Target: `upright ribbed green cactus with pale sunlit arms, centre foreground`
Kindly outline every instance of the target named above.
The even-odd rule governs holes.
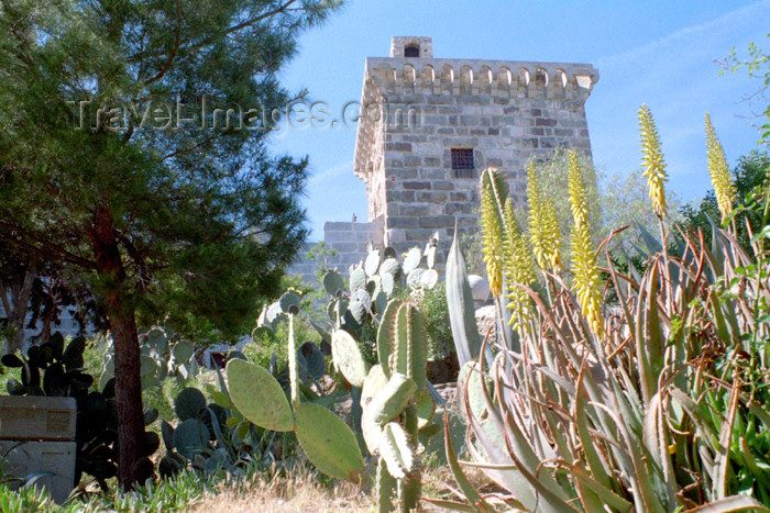
[[[409,255],[408,267],[416,267],[417,258],[416,253]],[[422,445],[418,434],[430,424],[436,409],[426,393],[427,344],[419,310],[409,302],[391,301],[377,332],[380,365],[370,369],[361,393],[364,442],[369,451],[380,457],[375,482],[380,512],[394,511],[392,499],[396,492],[402,511],[414,510],[420,498]],[[359,360],[359,356],[351,355],[358,348],[344,343],[340,346],[344,352],[333,354],[334,365],[350,368],[350,361]],[[360,378],[360,370],[350,373],[353,379]]]

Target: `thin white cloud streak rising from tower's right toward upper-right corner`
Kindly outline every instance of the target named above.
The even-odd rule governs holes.
[[[748,20],[761,19],[770,19],[770,0],[762,0],[745,8],[736,9],[735,11],[730,11],[715,20],[701,23],[700,25],[684,27],[660,37],[657,41],[637,46],[636,48],[606,57],[600,57],[596,59],[596,65],[600,68],[607,68],[620,64],[638,63],[641,62],[645,55],[670,49],[675,43],[688,41],[693,36],[697,36],[698,38],[708,37],[708,33],[713,32],[714,30],[724,29],[726,26],[735,26],[737,24],[745,23]]]

